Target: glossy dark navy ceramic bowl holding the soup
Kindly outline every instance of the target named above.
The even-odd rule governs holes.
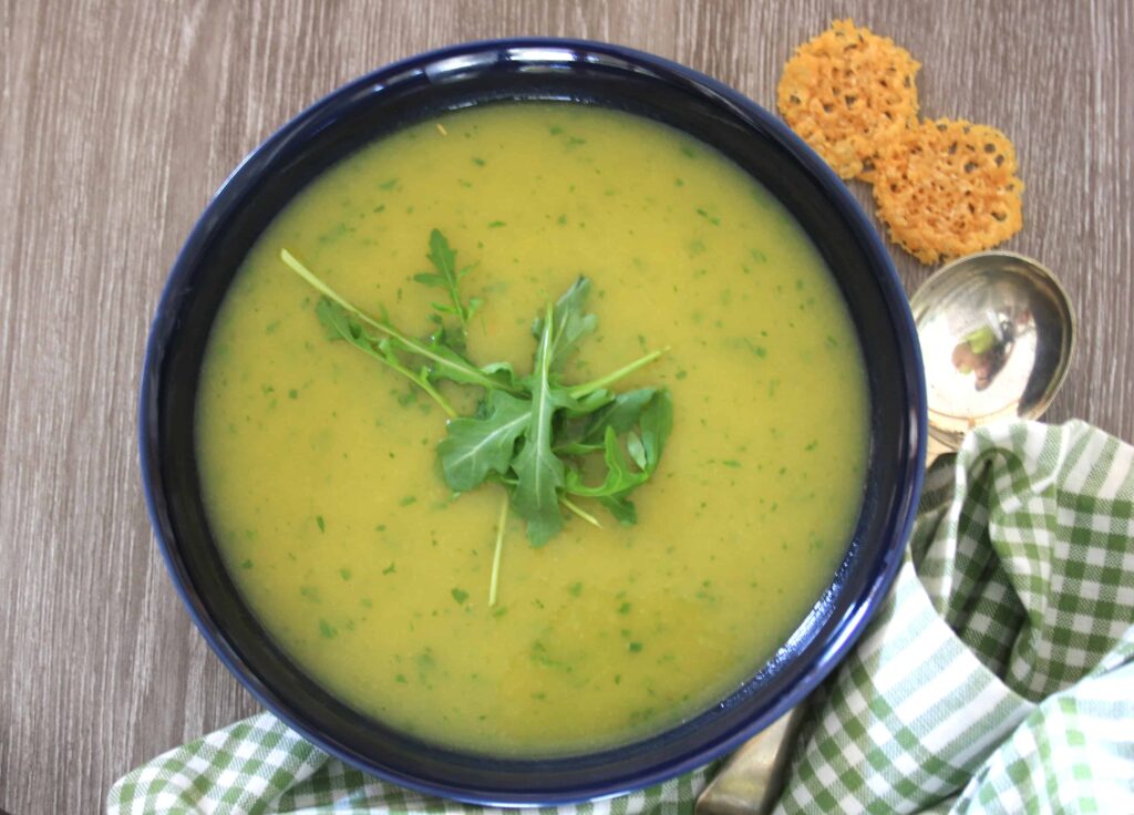
[[[865,353],[871,444],[865,500],[837,576],[771,662],[736,693],[653,738],[562,758],[494,758],[425,744],[323,690],[272,642],[221,564],[193,447],[205,341],[248,248],[314,177],[359,146],[442,111],[557,100],[685,130],[767,186],[841,287]],[[822,394],[816,394],[822,398]],[[501,805],[578,801],[677,775],[775,721],[836,667],[894,578],[921,487],[925,391],[909,307],[874,229],[843,182],[768,111],[702,74],[602,43],[509,40],[382,68],[301,113],[253,152],[205,209],[158,307],[141,396],[141,457],[158,543],[205,639],[269,710],[324,750],[424,792]],[[759,625],[759,623],[754,623]]]

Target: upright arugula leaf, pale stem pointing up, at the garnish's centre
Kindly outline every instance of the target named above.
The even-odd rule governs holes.
[[[519,479],[513,491],[513,503],[516,511],[527,520],[527,540],[533,546],[545,544],[564,525],[559,513],[564,462],[551,449],[551,423],[556,411],[551,392],[555,326],[549,305],[540,330],[535,371],[527,377],[532,392],[531,416],[524,445],[513,466]]]

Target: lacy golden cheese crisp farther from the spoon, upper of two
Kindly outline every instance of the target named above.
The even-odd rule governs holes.
[[[889,37],[836,20],[784,66],[777,103],[840,177],[871,181],[879,148],[916,125],[919,68]]]

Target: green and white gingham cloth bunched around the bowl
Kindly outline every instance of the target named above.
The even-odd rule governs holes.
[[[561,809],[689,813],[714,769]],[[347,767],[268,713],[108,799],[110,815],[473,809]],[[1134,448],[1013,423],[938,461],[890,597],[812,697],[776,812],[1134,813]]]

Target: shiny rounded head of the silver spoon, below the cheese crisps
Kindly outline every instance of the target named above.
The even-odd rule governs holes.
[[[1067,377],[1075,313],[1059,279],[1030,257],[962,257],[926,280],[909,306],[929,432],[951,450],[980,425],[1039,418]]]

